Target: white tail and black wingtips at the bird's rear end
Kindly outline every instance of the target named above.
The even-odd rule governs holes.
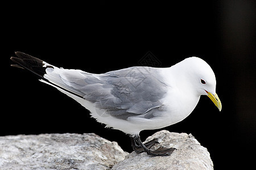
[[[50,65],[41,59],[22,52],[15,52],[15,54],[16,57],[11,57],[10,59],[16,64],[11,66],[31,71],[32,73],[40,76],[41,82],[47,83],[65,94],[69,93],[77,97],[83,96],[81,92],[71,86],[68,86],[68,84],[64,82],[63,78],[61,78],[60,75],[65,71],[65,69],[60,69],[59,67]]]

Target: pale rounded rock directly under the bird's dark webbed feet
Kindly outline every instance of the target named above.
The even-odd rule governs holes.
[[[161,146],[174,147],[177,150],[170,156],[148,156],[145,152],[136,154],[132,152],[125,160],[115,164],[113,170],[126,169],[213,169],[213,163],[207,148],[191,135],[185,133],[170,133],[162,130],[146,141],[158,138]],[[154,150],[160,145],[155,145]]]

